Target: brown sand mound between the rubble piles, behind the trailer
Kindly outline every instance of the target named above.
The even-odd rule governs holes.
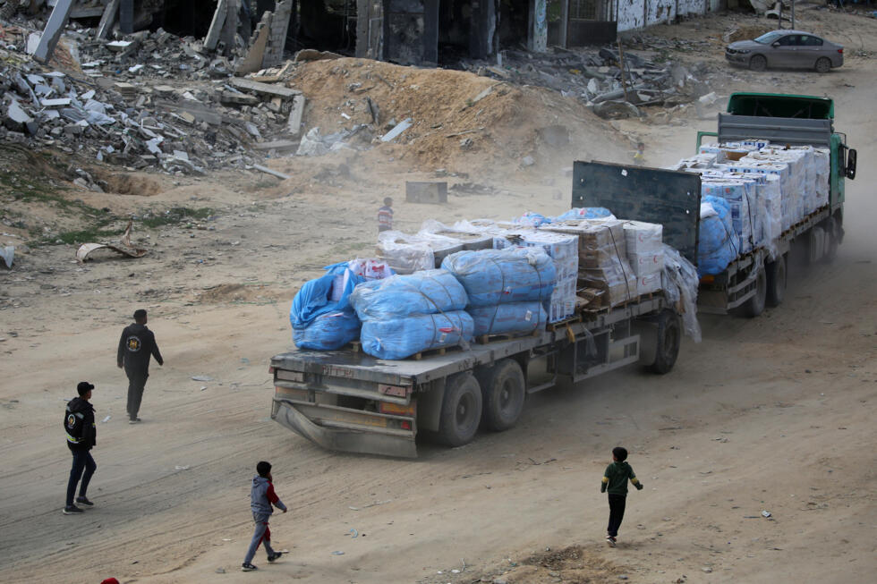
[[[368,124],[357,140],[388,152],[401,146],[413,164],[430,170],[500,174],[528,156],[537,165],[571,165],[598,153],[624,157],[630,148],[575,97],[470,72],[344,58],[303,63],[289,85],[308,99],[306,131],[319,127],[325,135]],[[392,144],[378,141],[406,118],[412,127]]]

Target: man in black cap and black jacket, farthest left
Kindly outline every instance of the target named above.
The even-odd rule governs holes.
[[[70,480],[67,481],[67,500],[64,504],[64,515],[72,515],[81,513],[80,507],[73,504],[73,495],[76,494],[76,484],[82,482],[79,487],[79,496],[76,497],[76,503],[82,505],[93,505],[86,496],[89,490],[89,481],[98,465],[95,464],[91,453],[91,448],[98,444],[98,429],[94,424],[94,407],[89,403],[91,399],[91,390],[94,385],[88,381],[81,381],[76,386],[79,397],[74,397],[67,403],[67,410],[64,412],[64,430],[67,432],[67,447],[73,454],[73,466],[70,470]],[[83,474],[83,470],[85,474]]]

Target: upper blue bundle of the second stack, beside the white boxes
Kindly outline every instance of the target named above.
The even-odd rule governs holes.
[[[470,308],[528,300],[544,304],[557,279],[554,260],[537,248],[458,251],[441,267],[463,284]]]

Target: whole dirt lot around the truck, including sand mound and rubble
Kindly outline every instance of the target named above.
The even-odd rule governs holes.
[[[509,52],[506,75],[488,70],[496,63],[442,71],[286,55],[244,77],[216,55],[189,55],[199,39],[153,32],[120,58],[106,42],[131,36],[98,42],[76,25],[41,65],[24,50],[39,27],[16,18],[3,25],[0,114],[14,100],[37,125],[13,112],[0,140],[0,250],[15,248],[12,268],[0,260],[0,580],[249,581],[239,573],[247,495],[263,459],[291,508],[271,524],[290,554],[257,558],[267,580],[829,582],[877,569],[872,471],[856,456],[877,439],[877,20],[799,5],[798,26],[847,47],[844,67],[823,76],[729,68],[723,36],[765,25],[748,15],[637,32],[623,45],[642,59],[637,82],[677,66],[696,82],[662,86],[664,103],[635,105],[640,116],[604,120],[588,102],[620,89],[620,69],[599,50]],[[93,61],[104,63],[85,66]],[[51,92],[35,100],[38,87]],[[643,140],[649,164],[675,162],[694,152],[696,131],[715,129],[733,90],[834,97],[835,126],[859,152],[839,257],[798,272],[782,307],[703,317],[704,343],[686,343],[671,375],[631,369],[533,394],[519,426],[460,449],[425,444],[417,461],[328,453],[270,421],[266,360],[291,345],[295,290],[323,266],[372,253],[385,196],[408,232],[428,218],[559,214],[572,160],[629,161]],[[714,104],[700,101],[712,92]],[[66,131],[77,124],[79,134]],[[328,152],[296,156],[317,128],[311,141]],[[158,136],[160,154],[147,146]],[[437,179],[447,204],[404,201],[406,180]],[[79,243],[117,242],[130,218],[145,256],[76,261]],[[120,423],[127,381],[115,343],[137,308],[149,309],[166,363],[150,371],[144,422],[132,427]],[[108,419],[98,421],[96,506],[64,517],[70,455],[58,418],[83,379]],[[645,489],[630,495],[609,549],[598,484],[617,444]]]

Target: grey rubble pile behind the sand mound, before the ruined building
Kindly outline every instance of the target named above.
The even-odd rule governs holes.
[[[640,39],[634,38],[634,44],[639,43]],[[673,107],[711,92],[707,80],[695,78],[682,65],[655,63],[625,52],[623,47],[553,47],[544,54],[507,50],[499,61],[501,65],[483,61],[461,65],[480,75],[578,97],[604,118],[639,116],[641,106]]]

